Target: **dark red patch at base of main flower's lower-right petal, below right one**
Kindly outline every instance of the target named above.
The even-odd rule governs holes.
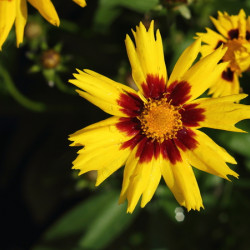
[[[183,151],[195,149],[198,142],[194,139],[195,133],[191,129],[183,128],[177,132],[175,144]]]

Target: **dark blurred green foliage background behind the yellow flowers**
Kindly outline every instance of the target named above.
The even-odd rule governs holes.
[[[178,206],[163,181],[152,201],[126,214],[118,206],[120,169],[95,188],[95,173],[71,170],[68,135],[107,114],[67,83],[89,68],[133,84],[125,35],[139,21],[160,29],[170,73],[196,32],[217,11],[250,15],[249,0],[53,0],[56,28],[29,6],[25,41],[14,29],[0,52],[1,249],[249,249],[250,134],[206,130],[237,160],[239,180],[195,171],[205,210]],[[250,73],[240,79],[250,93]],[[245,103],[250,103],[248,98]],[[250,121],[239,127],[250,131]]]

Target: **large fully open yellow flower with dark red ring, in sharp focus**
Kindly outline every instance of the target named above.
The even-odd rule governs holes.
[[[228,179],[237,177],[226,162],[234,158],[218,146],[201,127],[235,132],[234,125],[250,118],[250,107],[235,102],[245,94],[197,99],[226,69],[220,63],[226,49],[193,64],[200,39],[189,46],[177,61],[168,79],[159,30],[153,22],[148,31],[140,23],[125,43],[133,79],[139,91],[112,81],[91,70],[78,70],[70,83],[77,92],[113,115],[70,136],[71,146],[82,146],[73,162],[79,174],[97,170],[96,185],[125,165],[119,202],[128,200],[132,213],[141,198],[144,207],[163,176],[180,205],[188,210],[203,207],[192,167]]]

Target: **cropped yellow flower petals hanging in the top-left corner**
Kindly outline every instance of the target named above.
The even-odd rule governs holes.
[[[23,32],[27,21],[27,1],[51,24],[59,26],[60,21],[50,0],[0,0],[0,50],[15,22],[17,47],[23,42]],[[85,0],[73,0],[86,6]]]

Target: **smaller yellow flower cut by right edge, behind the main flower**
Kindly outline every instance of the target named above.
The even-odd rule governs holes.
[[[222,72],[220,81],[211,86],[213,97],[238,94],[239,76],[250,67],[250,16],[246,19],[244,10],[229,16],[218,12],[218,19],[211,17],[218,33],[207,28],[207,33],[197,33],[204,44],[201,53],[206,56],[223,44],[227,52],[222,58],[229,66]]]

